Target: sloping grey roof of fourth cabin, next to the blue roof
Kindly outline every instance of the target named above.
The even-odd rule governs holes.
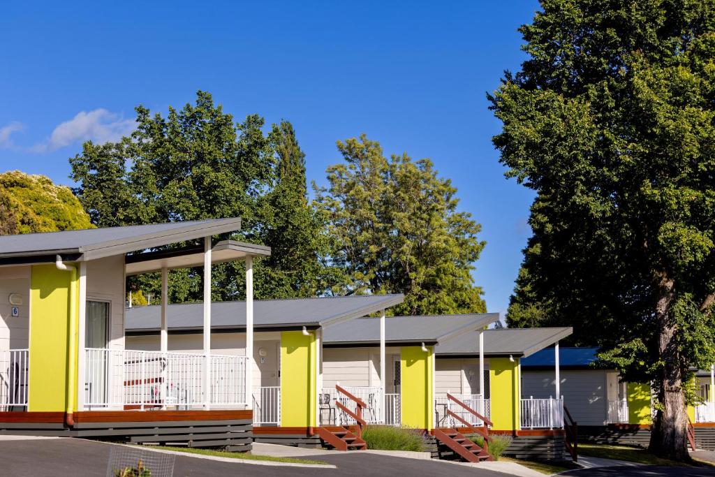
[[[573,333],[573,328],[508,328],[484,331],[484,355],[526,358]],[[465,333],[438,345],[437,355],[478,355],[479,333]]]

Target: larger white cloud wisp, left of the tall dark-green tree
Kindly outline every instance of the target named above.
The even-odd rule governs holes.
[[[54,151],[60,147],[89,140],[99,144],[115,142],[134,131],[134,128],[134,119],[122,119],[119,114],[109,112],[107,109],[80,111],[69,121],[58,124],[45,142],[34,145],[31,150]]]

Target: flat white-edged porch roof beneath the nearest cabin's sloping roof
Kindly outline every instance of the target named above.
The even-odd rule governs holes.
[[[211,248],[211,263],[245,260],[246,257],[269,257],[270,247],[252,243],[222,240]],[[127,276],[157,272],[163,268],[191,268],[204,265],[204,246],[191,245],[175,250],[157,250],[127,255]]]

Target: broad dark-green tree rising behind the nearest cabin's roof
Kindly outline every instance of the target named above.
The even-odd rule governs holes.
[[[250,115],[236,123],[198,92],[195,104],[169,107],[167,117],[139,106],[137,129],[117,143],[84,144],[70,159],[75,192],[99,227],[242,217],[240,240],[273,247],[255,264],[255,296],[315,295],[322,224],[307,205],[304,154],[290,123],[263,132]],[[310,237],[310,240],[302,240]],[[214,268],[214,298],[243,296],[240,263]],[[201,297],[199,270],[169,276],[174,302]],[[134,289],[159,296],[158,277],[139,277]]]

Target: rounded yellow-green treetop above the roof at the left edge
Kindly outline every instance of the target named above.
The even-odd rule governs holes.
[[[0,174],[0,235],[92,227],[69,187],[41,175]]]

